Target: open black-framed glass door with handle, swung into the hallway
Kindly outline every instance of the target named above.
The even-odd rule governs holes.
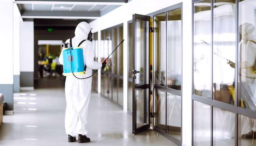
[[[132,133],[136,135],[150,127],[150,16],[135,14],[132,25]]]

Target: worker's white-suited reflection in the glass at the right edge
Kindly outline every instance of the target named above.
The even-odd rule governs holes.
[[[244,23],[239,26],[241,42],[238,59],[238,77],[240,82],[240,96],[246,108],[256,111],[256,31],[252,24]],[[254,42],[253,42],[254,41]],[[256,120],[242,115],[241,134],[256,131]]]

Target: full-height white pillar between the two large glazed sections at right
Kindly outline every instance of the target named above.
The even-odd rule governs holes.
[[[183,44],[182,44],[182,146],[191,146],[192,142],[192,3],[183,2],[182,6]],[[184,11],[185,10],[185,11]],[[190,91],[190,92],[189,92]]]

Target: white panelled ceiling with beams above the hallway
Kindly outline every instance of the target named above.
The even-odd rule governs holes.
[[[24,21],[37,26],[91,22],[130,0],[15,0]],[[56,21],[58,20],[58,21]]]

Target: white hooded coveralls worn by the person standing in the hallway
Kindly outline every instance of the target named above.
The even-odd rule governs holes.
[[[87,22],[80,22],[75,29],[75,36],[72,38],[72,46],[77,47],[79,43],[88,38],[91,30]],[[66,40],[70,43],[70,39]],[[98,70],[102,67],[101,62],[94,61],[94,49],[91,41],[84,41],[80,47],[83,49],[83,60],[87,66],[85,74],[76,75],[78,78],[86,78],[92,75],[92,70]],[[61,51],[59,62],[63,65],[63,50]],[[86,79],[78,79],[73,75],[66,76],[65,96],[66,96],[66,113],[65,113],[65,129],[68,135],[72,137],[77,134],[86,135],[88,106],[92,89],[92,77]]]

